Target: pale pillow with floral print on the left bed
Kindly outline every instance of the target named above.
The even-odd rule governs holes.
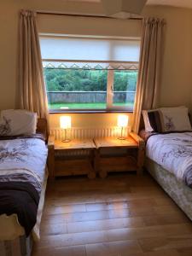
[[[37,113],[20,109],[3,110],[0,116],[0,136],[36,133]]]

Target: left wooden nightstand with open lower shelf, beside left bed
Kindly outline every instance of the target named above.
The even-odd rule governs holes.
[[[87,174],[95,178],[93,168],[95,144],[90,139],[72,140],[62,143],[49,138],[49,173],[50,177]]]

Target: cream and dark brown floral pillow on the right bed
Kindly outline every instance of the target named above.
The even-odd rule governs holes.
[[[145,131],[191,131],[188,108],[158,108],[143,110]]]

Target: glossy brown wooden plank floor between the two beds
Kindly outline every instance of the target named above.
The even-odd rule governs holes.
[[[191,256],[192,223],[145,174],[48,184],[33,256]]]

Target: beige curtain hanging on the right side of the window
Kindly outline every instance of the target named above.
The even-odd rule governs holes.
[[[137,79],[133,131],[139,131],[142,109],[157,108],[160,88],[160,64],[163,54],[165,20],[143,20],[143,36]]]

